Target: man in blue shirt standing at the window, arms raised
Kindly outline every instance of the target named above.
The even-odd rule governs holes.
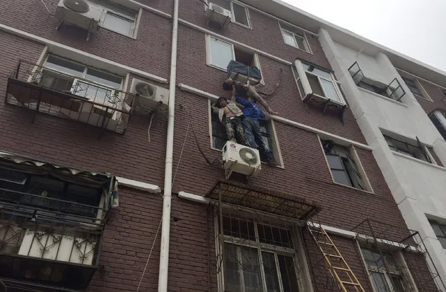
[[[235,92],[233,91],[232,94],[235,94]],[[245,100],[235,94],[235,100],[244,106],[243,128],[249,145],[258,149],[265,162],[274,164],[274,157],[271,151],[268,150],[260,132],[259,118],[265,118],[265,113],[262,112],[262,109],[258,107],[255,100],[250,96],[248,96],[248,100]]]

